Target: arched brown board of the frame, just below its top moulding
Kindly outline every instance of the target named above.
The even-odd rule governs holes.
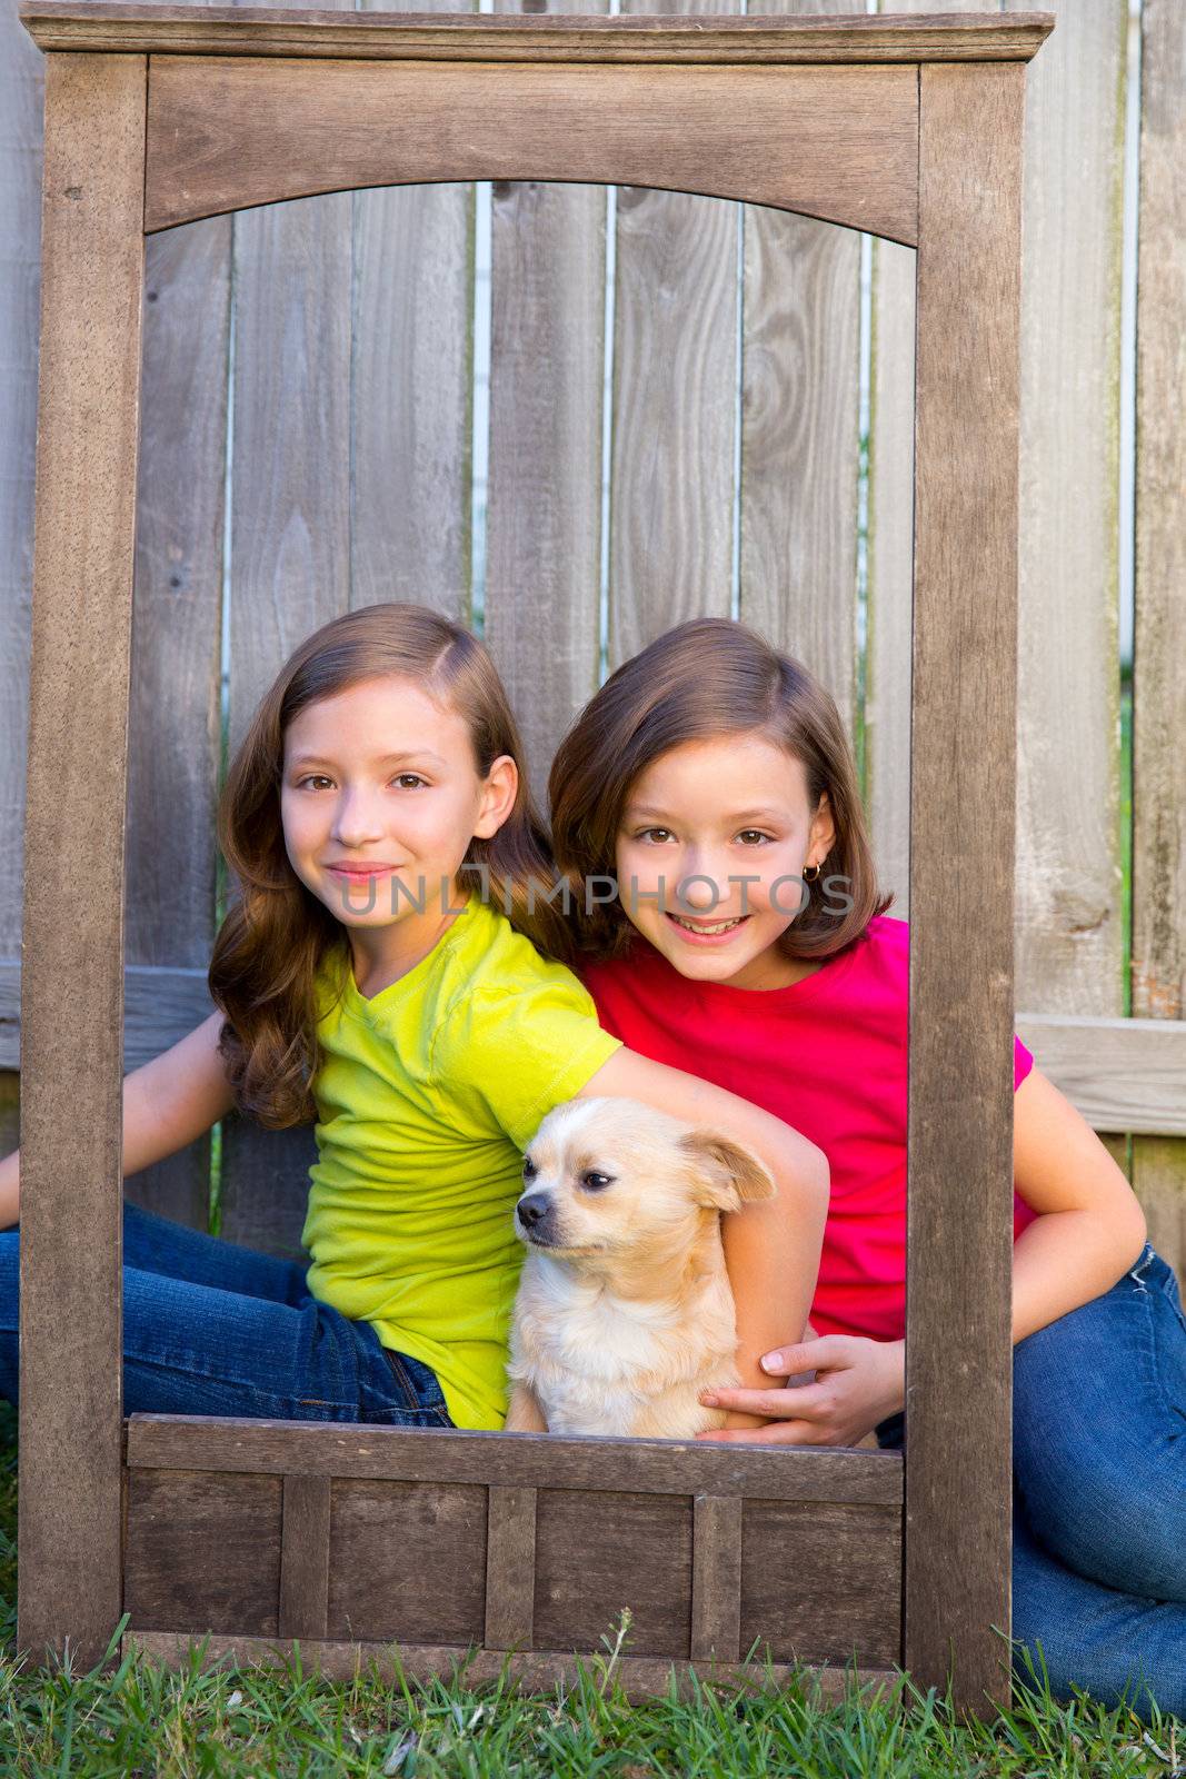
[[[162,55],[146,226],[354,185],[487,176],[745,196],[912,240],[914,119],[909,68]]]

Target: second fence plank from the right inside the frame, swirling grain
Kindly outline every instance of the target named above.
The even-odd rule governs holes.
[[[861,235],[759,205],[743,206],[743,229],[740,616],[823,681],[852,733]]]

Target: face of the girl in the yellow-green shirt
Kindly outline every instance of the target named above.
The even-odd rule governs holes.
[[[288,861],[356,938],[398,923],[402,954],[439,927],[469,841],[501,827],[516,788],[509,754],[478,777],[466,720],[414,680],[363,680],[284,731]]]

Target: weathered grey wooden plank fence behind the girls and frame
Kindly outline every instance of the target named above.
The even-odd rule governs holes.
[[[7,1149],[18,1139],[41,57],[14,0],[2,5]],[[414,9],[445,11],[432,0]],[[697,9],[733,11],[622,5]],[[526,0],[523,11],[544,7]],[[898,0],[882,11],[926,7]],[[1058,28],[1030,71],[1024,217],[1019,1030],[1108,1135],[1152,1240],[1186,1277],[1186,14],[1179,0],[1143,0],[1129,32],[1127,0],[1049,0],[1049,11]],[[208,1009],[224,729],[233,747],[301,637],[375,600],[414,598],[482,626],[539,790],[606,662],[693,614],[756,624],[800,655],[848,717],[878,863],[898,891],[893,913],[907,913],[914,254],[709,197],[487,190],[489,286],[475,281],[485,201],[462,185],[304,199],[148,242],[128,1067]],[[489,288],[489,342],[475,326],[485,315],[475,285],[480,299]],[[489,356],[489,406],[477,406],[489,438],[477,450],[475,342]],[[489,477],[478,475],[475,500],[485,443]],[[1126,471],[1131,776],[1118,648]],[[477,550],[475,509],[485,514]],[[204,1226],[213,1158],[222,1233],[297,1252],[311,1156],[309,1130],[263,1133],[231,1117],[220,1140],[203,1139],[128,1192]]]

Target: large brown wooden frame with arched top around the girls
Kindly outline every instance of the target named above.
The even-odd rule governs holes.
[[[768,1532],[791,1510],[811,1519],[818,1503],[832,1521],[814,1535],[837,1564],[871,1544],[873,1576],[885,1551],[894,1567],[902,1558],[900,1637],[885,1594],[893,1649],[873,1649],[866,1670],[900,1656],[925,1685],[950,1676],[973,1710],[1006,1703],[992,1626],[1010,1628],[1021,148],[1024,62],[1053,21],[114,0],[21,16],[48,55],[21,984],[21,1647],[101,1656],[148,1560],[137,1501],[148,1491],[167,1519],[197,1473],[228,1489],[254,1478],[279,1503],[276,1635],[341,1667],[370,1646],[329,1630],[331,1494],[334,1478],[345,1491],[365,1477],[485,1491],[473,1640],[487,1662],[517,1647],[525,1672],[544,1676],[565,1656],[535,1651],[532,1630],[544,1598],[537,1509],[564,1491],[565,1512],[594,1498],[686,1507],[686,1644],[638,1658],[638,1685],[672,1660],[745,1654],[745,1528]],[[144,233],[309,192],[466,178],[711,192],[918,247],[905,1464],[123,1420],[123,809]],[[855,1523],[836,1530],[836,1512],[869,1505],[893,1523],[877,1541]],[[645,1533],[637,1541],[644,1551]],[[204,1628],[132,1624],[164,1653]],[[231,1626],[219,1646],[258,1642]],[[455,1653],[423,1637],[407,1651],[413,1665]]]

